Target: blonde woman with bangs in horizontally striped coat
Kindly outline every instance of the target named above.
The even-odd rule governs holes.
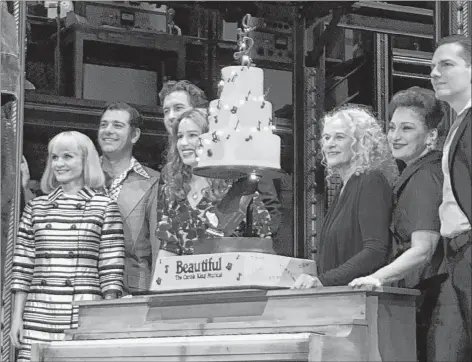
[[[11,340],[18,361],[30,361],[31,343],[61,340],[77,327],[72,302],[123,292],[123,225],[118,205],[98,191],[104,182],[90,138],[72,131],[49,142],[46,195],[25,207],[15,246]]]

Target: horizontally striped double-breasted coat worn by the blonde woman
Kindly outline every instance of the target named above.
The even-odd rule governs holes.
[[[77,327],[73,301],[123,292],[124,240],[118,205],[84,187],[75,196],[61,187],[30,201],[23,212],[13,259],[12,291],[27,293],[24,344],[64,338]]]

